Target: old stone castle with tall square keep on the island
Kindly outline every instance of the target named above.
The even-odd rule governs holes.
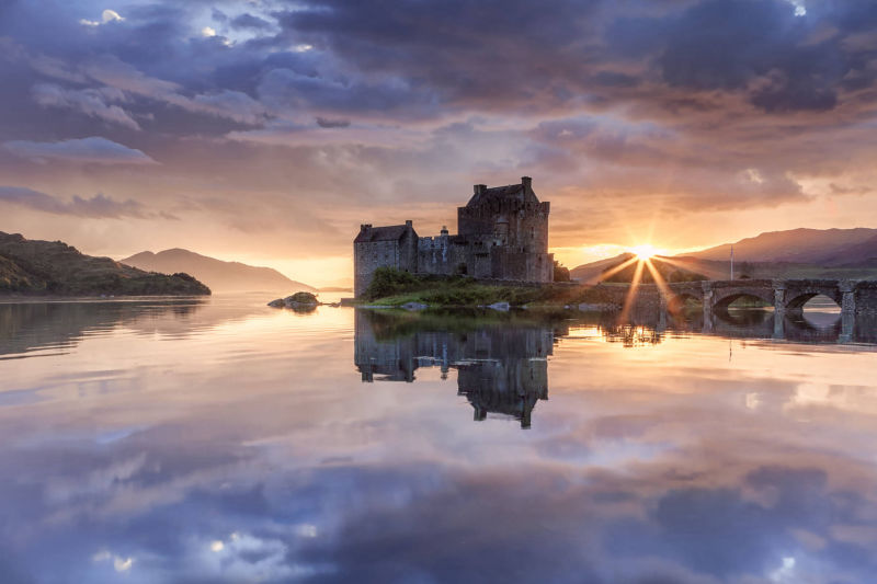
[[[464,274],[479,279],[545,283],[554,279],[548,253],[548,202],[539,203],[533,180],[494,186],[476,184],[457,208],[456,236],[442,228],[418,237],[412,221],[387,227],[360,226],[353,240],[354,294],[362,296],[378,267],[412,274]]]

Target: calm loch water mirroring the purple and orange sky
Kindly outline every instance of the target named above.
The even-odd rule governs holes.
[[[0,305],[0,582],[877,581],[877,322]]]

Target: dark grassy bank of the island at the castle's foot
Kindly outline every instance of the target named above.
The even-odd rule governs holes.
[[[511,306],[536,307],[581,302],[611,304],[614,299],[599,287],[570,284],[491,285],[481,284],[467,276],[414,275],[390,267],[379,267],[364,294],[364,300],[374,306],[402,306],[417,302],[431,307],[475,307],[509,302]]]

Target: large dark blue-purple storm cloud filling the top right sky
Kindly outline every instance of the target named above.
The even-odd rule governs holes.
[[[280,22],[282,38],[304,37],[360,70],[493,107],[629,99],[606,90],[649,80],[739,92],[766,112],[821,111],[836,105],[850,76],[874,81],[868,50],[848,43],[863,21],[877,19],[873,3],[796,15],[785,0],[665,2],[650,16],[630,16],[647,12],[643,2],[326,0]],[[640,65],[635,75],[606,69],[631,60]]]

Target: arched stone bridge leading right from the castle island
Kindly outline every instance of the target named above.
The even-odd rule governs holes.
[[[795,314],[810,299],[823,295],[841,307],[842,314],[877,311],[877,280],[850,279],[733,279],[668,284],[661,294],[653,284],[640,285],[637,306],[676,311],[687,299],[704,306],[704,314],[725,312],[734,300],[754,298],[774,307],[777,313]]]

